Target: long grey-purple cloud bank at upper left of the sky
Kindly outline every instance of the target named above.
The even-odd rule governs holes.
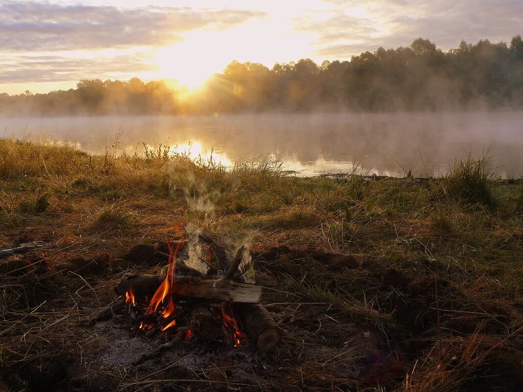
[[[224,30],[260,11],[188,7],[117,8],[7,1],[0,4],[0,50],[60,51],[162,45],[196,29]]]

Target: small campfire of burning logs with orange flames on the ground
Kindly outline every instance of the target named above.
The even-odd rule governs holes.
[[[165,335],[162,350],[188,340],[231,348],[250,342],[257,350],[278,344],[281,331],[261,304],[261,287],[246,282],[238,269],[244,246],[231,261],[222,247],[203,244],[201,260],[209,266],[204,273],[187,265],[185,240],[163,248],[168,249],[165,275],[126,276],[115,288],[125,298],[133,332]],[[222,271],[211,267],[211,259]]]

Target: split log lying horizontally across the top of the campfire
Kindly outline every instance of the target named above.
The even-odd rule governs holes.
[[[145,296],[152,298],[164,281],[161,275],[131,275],[123,278],[115,287],[115,292],[125,295],[131,288],[138,302],[144,302]],[[209,301],[259,304],[261,287],[234,282],[232,280],[199,279],[187,276],[175,276],[172,288],[175,296],[186,298],[205,298]]]

